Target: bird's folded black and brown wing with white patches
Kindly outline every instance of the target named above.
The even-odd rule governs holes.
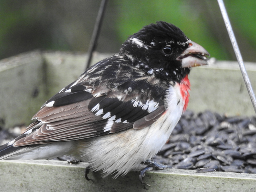
[[[103,60],[104,61],[104,60]],[[152,124],[165,111],[165,86],[129,65],[104,62],[48,100],[13,146],[78,140]],[[98,69],[96,69],[98,68]],[[129,68],[129,69],[128,69]],[[110,75],[111,73],[111,75]],[[131,77],[132,74],[132,77]]]

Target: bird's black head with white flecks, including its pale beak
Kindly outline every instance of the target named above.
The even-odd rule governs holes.
[[[209,55],[178,27],[162,21],[130,36],[120,54],[130,58],[134,66],[168,82],[180,82],[190,67],[207,64],[205,55]]]

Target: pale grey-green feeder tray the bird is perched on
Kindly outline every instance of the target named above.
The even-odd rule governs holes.
[[[96,63],[110,54],[96,54]],[[85,68],[86,54],[34,51],[0,61],[0,122],[4,127],[31,122],[44,102],[74,81]],[[246,63],[256,90],[256,65]],[[189,110],[216,111],[228,116],[252,116],[254,110],[237,62],[218,61],[193,68]],[[218,87],[218,89],[217,89]],[[138,171],[113,180],[90,173],[88,164],[55,160],[0,161],[0,191],[256,191],[256,175],[231,172],[196,173],[195,170],[167,169],[147,172],[143,186]]]

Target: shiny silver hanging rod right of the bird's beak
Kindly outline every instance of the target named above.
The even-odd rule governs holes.
[[[244,78],[244,82],[245,82],[246,88],[248,90],[250,99],[252,101],[252,105],[253,105],[254,111],[256,113],[256,98],[255,98],[255,94],[253,92],[252,84],[250,83],[250,79],[249,79],[248,74],[246,72],[246,69],[245,69],[245,66],[244,66],[244,62],[243,62],[243,59],[242,59],[242,55],[241,55],[240,50],[238,48],[238,44],[236,42],[236,38],[235,38],[234,32],[232,30],[232,26],[230,24],[230,20],[228,18],[228,14],[227,14],[227,11],[226,11],[226,8],[225,8],[223,0],[218,0],[218,4],[220,6],[220,11],[221,11],[222,17],[224,19],[224,22],[225,22],[229,38],[230,38],[230,41],[231,41],[233,49],[234,49],[234,52],[236,54],[236,58],[238,60],[238,64],[239,64],[242,76]]]

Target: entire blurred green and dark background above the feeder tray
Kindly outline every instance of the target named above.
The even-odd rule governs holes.
[[[224,0],[245,61],[256,60],[256,3]],[[86,52],[100,0],[0,1],[0,58],[34,49]],[[97,51],[117,52],[142,26],[163,20],[178,26],[212,57],[235,60],[215,0],[111,0]]]

